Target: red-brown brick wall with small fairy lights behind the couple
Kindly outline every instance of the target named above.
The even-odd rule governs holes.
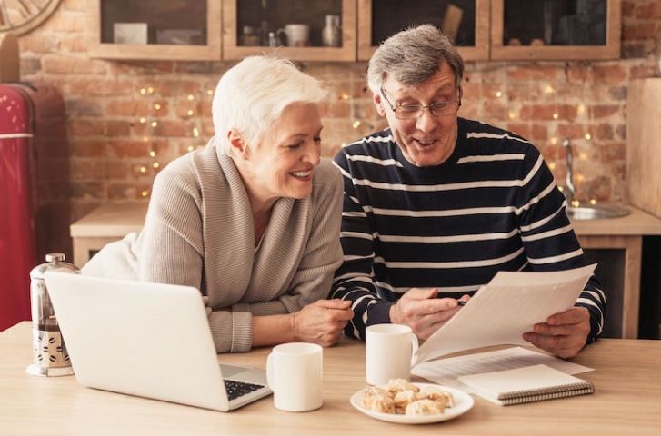
[[[572,138],[578,197],[626,200],[627,84],[653,74],[661,2],[623,0],[622,15],[616,61],[468,63],[460,115],[525,135],[559,184],[565,178],[562,139]],[[22,80],[53,85],[65,97],[72,220],[101,203],[146,201],[159,169],[204,146],[213,134],[215,83],[231,66],[90,59],[88,19],[85,0],[64,0],[19,41]],[[366,91],[366,63],[304,67],[332,89],[323,115],[325,156],[385,125]]]

